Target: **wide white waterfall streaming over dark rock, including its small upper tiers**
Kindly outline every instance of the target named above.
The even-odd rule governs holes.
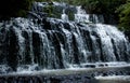
[[[123,61],[123,66],[130,61],[130,43],[117,27],[100,24],[104,22],[102,15],[86,14],[77,6],[74,22],[65,10],[62,19],[42,18],[38,8],[44,3],[37,4],[32,11],[37,14],[31,14],[38,19],[18,17],[0,23],[1,74],[86,68],[100,63],[106,66],[109,61]]]

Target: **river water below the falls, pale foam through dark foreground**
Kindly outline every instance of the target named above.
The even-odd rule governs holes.
[[[129,83],[130,67],[21,71],[0,75],[0,83]]]

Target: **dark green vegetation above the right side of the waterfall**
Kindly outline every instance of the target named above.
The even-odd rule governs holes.
[[[75,0],[72,3],[82,5],[90,14],[103,14],[105,24],[116,24],[121,30],[130,31],[130,0]]]

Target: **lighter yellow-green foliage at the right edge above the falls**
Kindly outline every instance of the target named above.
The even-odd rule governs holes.
[[[117,11],[120,13],[120,29],[130,30],[130,0],[128,0],[126,4],[120,5],[120,8]]]

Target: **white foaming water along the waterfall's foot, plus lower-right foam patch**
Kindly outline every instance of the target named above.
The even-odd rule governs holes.
[[[16,75],[16,74],[28,74],[28,75],[37,75],[37,74],[44,74],[44,75],[66,75],[66,74],[74,74],[74,73],[89,73],[89,72],[93,72],[98,73],[98,71],[103,72],[103,71],[113,71],[113,70],[117,70],[117,71],[121,71],[121,69],[123,68],[130,68],[130,64],[127,64],[125,61],[119,63],[119,61],[115,61],[115,63],[95,63],[95,64],[86,64],[86,65],[95,65],[95,68],[67,68],[67,69],[42,69],[37,71],[35,68],[38,67],[38,65],[26,65],[26,66],[21,66],[17,68],[17,72],[11,72],[8,74],[11,75]],[[102,67],[101,67],[102,65]],[[103,67],[104,65],[104,67]],[[106,66],[107,65],[107,66]],[[126,72],[123,72],[126,73]],[[123,78],[126,78],[126,75],[122,75]],[[106,77],[103,77],[102,73],[98,74],[95,77],[95,79],[98,80],[110,80],[110,79],[119,79],[120,75],[116,75],[116,74],[108,74]],[[121,78],[121,79],[123,79]]]

